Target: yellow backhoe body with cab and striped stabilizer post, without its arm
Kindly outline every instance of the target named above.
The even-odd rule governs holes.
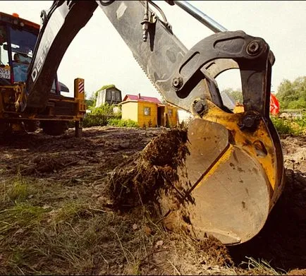
[[[39,88],[35,100],[47,95],[44,107],[38,108],[23,102],[30,96],[26,87],[30,76],[30,65],[35,58],[35,47],[39,39],[40,25],[0,12],[0,133],[11,131],[32,132],[40,124],[50,135],[60,135],[67,129],[68,121],[75,121],[75,134],[80,136],[80,121],[85,114],[84,80],[78,78],[80,86],[73,97],[65,97],[61,92],[69,92],[66,85],[59,82],[57,73],[49,74],[51,86]],[[43,80],[44,81],[44,80]]]

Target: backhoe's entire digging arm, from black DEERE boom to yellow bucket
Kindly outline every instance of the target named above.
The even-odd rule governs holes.
[[[214,34],[187,49],[158,1],[54,1],[41,13],[16,110],[47,106],[63,54],[102,8],[166,102],[192,114],[185,172],[180,187],[174,187],[190,233],[197,239],[213,236],[226,245],[242,244],[262,229],[285,183],[281,142],[269,117],[274,54],[261,37],[226,30],[187,1],[166,2]],[[216,83],[229,69],[240,71],[243,112],[226,107]],[[175,217],[175,209],[164,209],[165,216]]]

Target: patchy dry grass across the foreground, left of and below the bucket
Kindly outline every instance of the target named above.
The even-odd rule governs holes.
[[[90,197],[90,184],[63,183],[20,174],[2,183],[1,275],[240,273],[216,241],[165,232],[149,207],[114,212]],[[241,271],[280,275],[252,259]]]

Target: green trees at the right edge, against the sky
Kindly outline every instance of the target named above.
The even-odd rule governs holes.
[[[281,109],[306,108],[306,76],[298,77],[293,82],[283,80],[277,89]]]

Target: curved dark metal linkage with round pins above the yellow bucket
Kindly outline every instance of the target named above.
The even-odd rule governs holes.
[[[202,67],[216,59],[233,59],[240,68],[245,111],[269,116],[271,66],[274,55],[262,38],[243,31],[219,32],[204,38],[185,54],[172,77],[178,97],[188,97],[197,83]],[[179,80],[179,81],[178,81]]]

